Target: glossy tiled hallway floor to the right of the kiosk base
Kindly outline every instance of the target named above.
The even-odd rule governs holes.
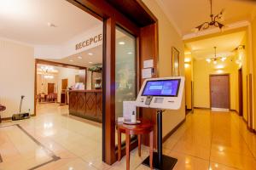
[[[164,144],[175,169],[255,169],[256,136],[234,112],[195,110]]]

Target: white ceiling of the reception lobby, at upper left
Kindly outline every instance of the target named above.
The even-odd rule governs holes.
[[[0,20],[0,37],[32,45],[61,44],[102,25],[65,0],[1,0]]]

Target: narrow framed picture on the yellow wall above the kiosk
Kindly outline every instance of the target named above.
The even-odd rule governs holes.
[[[179,51],[172,47],[172,77],[178,77],[179,74]]]

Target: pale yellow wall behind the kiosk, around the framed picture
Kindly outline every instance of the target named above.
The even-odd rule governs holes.
[[[163,13],[160,6],[154,0],[143,0],[143,3],[152,11],[159,21],[159,76],[170,77],[172,46],[180,52],[181,74],[184,75],[183,64],[183,41],[171,22]],[[183,93],[185,94],[185,93]],[[163,114],[163,136],[169,133],[173,127],[185,118],[185,95],[183,95],[183,105],[179,111],[166,111]]]

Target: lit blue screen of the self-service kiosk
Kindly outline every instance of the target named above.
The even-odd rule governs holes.
[[[177,97],[180,79],[148,81],[143,89],[143,96]]]

